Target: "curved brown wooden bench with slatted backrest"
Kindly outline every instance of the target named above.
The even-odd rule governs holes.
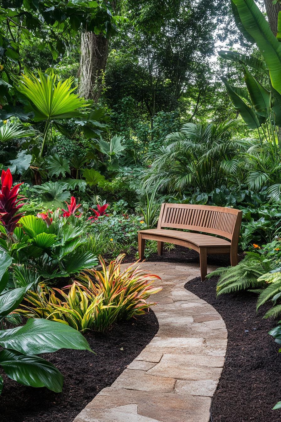
[[[231,265],[237,265],[241,220],[242,211],[234,208],[163,203],[157,229],[138,232],[139,257],[140,259],[144,258],[146,239],[157,241],[158,255],[163,254],[164,242],[186,246],[200,254],[200,270],[203,281],[207,274],[207,254],[230,254]],[[171,228],[211,233],[230,239],[230,241],[200,233],[169,230]]]

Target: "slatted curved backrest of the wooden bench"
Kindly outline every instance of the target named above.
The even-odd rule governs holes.
[[[241,220],[242,211],[235,208],[163,203],[157,228],[212,233],[238,241]]]

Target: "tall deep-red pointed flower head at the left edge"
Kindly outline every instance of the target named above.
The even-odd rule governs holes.
[[[19,202],[21,202],[22,199],[26,199],[17,199],[19,187],[22,183],[15,185],[13,188],[12,184],[13,177],[11,175],[11,170],[9,168],[7,171],[2,170],[0,189],[0,221],[5,226],[7,233],[13,232],[19,219],[24,215],[24,213],[17,214],[17,212],[19,208],[24,205],[24,203]]]

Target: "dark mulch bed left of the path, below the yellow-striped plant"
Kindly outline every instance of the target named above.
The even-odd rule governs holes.
[[[158,331],[158,321],[150,311],[136,319],[115,325],[107,333],[87,333],[96,352],[59,350],[42,355],[64,375],[62,393],[46,388],[24,387],[3,372],[0,396],[1,422],[71,422],[101,391],[123,372]]]

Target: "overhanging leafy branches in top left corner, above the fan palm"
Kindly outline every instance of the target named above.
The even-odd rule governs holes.
[[[81,32],[104,33],[114,27],[106,0],[1,0],[0,1],[0,117],[27,119],[19,107],[21,97],[12,89],[13,78],[22,73],[21,49],[40,40],[53,59],[76,46]],[[16,107],[14,106],[16,104]]]

